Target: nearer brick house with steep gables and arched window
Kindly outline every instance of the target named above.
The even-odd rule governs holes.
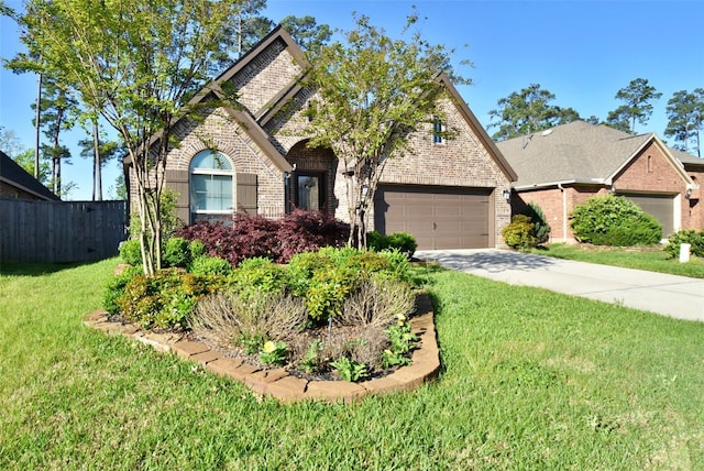
[[[279,217],[295,207],[348,220],[345,168],[332,151],[306,146],[302,111],[315,92],[299,84],[305,64],[279,26],[195,99],[226,84],[238,90],[238,107],[177,123],[165,182],[179,194],[184,221],[234,210]],[[411,135],[416,152],[387,163],[370,221],[383,233],[414,233],[420,249],[503,247],[516,174],[448,78],[439,79],[448,91],[442,125],[459,135],[439,139],[430,124]]]

